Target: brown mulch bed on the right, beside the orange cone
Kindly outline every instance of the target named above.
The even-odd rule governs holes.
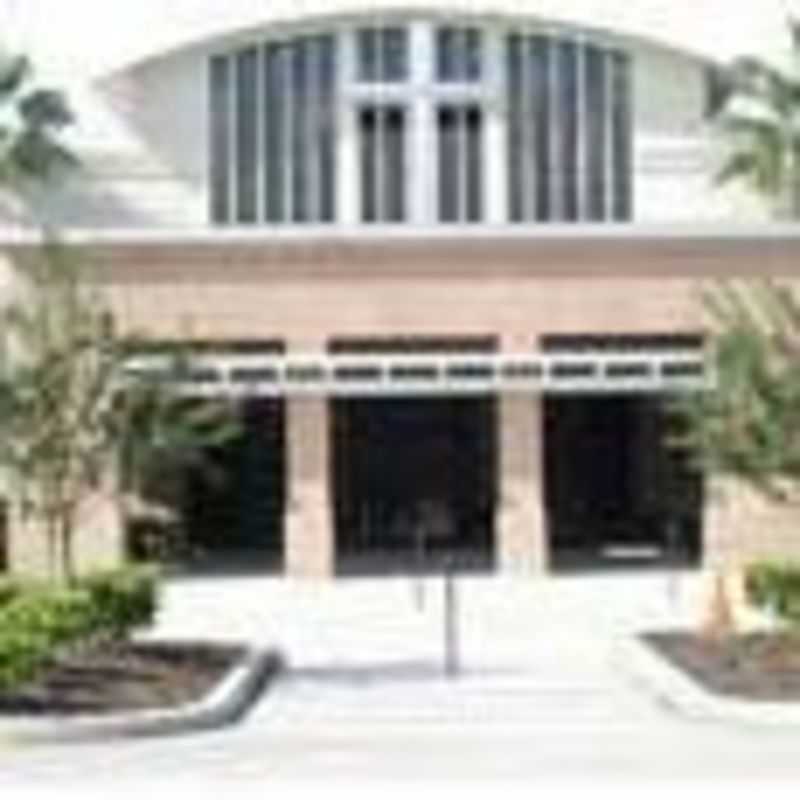
[[[800,701],[797,635],[739,634],[721,642],[690,632],[643,638],[711,692],[762,702]]]

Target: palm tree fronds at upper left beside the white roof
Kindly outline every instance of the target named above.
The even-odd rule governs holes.
[[[59,141],[73,121],[61,92],[31,86],[25,56],[0,55],[0,186],[19,189],[76,166]]]

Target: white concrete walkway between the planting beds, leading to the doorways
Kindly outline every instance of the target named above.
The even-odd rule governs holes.
[[[177,581],[154,635],[273,644],[290,670],[250,725],[298,731],[491,725],[628,728],[664,711],[615,662],[623,637],[696,616],[700,579],[456,579],[461,675],[439,578]]]

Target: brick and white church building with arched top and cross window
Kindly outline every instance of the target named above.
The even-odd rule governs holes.
[[[187,478],[198,547],[316,577],[796,549],[662,446],[703,377],[698,282],[800,263],[715,181],[724,37],[610,0],[215,6],[76,85],[84,169],[0,212],[12,254],[61,226],[125,326],[242,402],[235,491]]]

